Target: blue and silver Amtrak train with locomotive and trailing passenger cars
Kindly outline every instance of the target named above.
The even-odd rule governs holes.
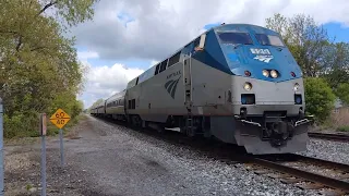
[[[311,122],[299,64],[277,32],[253,24],[207,29],[91,114],[215,137],[252,155],[306,150]]]

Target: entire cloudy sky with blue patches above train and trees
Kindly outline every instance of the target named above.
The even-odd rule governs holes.
[[[71,29],[88,72],[79,99],[88,108],[220,23],[265,26],[274,13],[303,13],[335,41],[349,42],[348,0],[100,0],[93,21]]]

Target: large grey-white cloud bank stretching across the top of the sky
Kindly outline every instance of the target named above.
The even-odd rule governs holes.
[[[310,14],[318,23],[349,24],[348,10],[348,0],[100,1],[94,21],[73,33],[77,45],[93,48],[101,59],[163,60],[203,32],[206,24],[264,25],[265,19],[277,12],[286,16]]]

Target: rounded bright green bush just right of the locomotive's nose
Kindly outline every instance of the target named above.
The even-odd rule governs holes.
[[[308,77],[304,79],[305,112],[313,114],[316,122],[323,123],[334,109],[336,99],[325,79]]]

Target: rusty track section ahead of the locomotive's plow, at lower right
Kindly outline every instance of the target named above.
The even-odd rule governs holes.
[[[322,195],[349,195],[349,166],[296,154],[249,157],[246,169]]]

